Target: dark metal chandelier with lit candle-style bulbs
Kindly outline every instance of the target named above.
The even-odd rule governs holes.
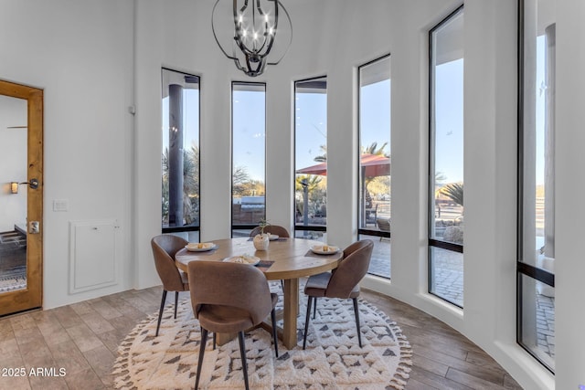
[[[233,59],[236,68],[250,77],[256,77],[262,74],[267,65],[277,65],[281,62],[293,41],[293,24],[291,17],[279,0],[233,0],[233,18],[219,19],[220,21],[229,19],[229,23],[233,23],[233,26],[226,26],[226,28],[221,26],[221,30],[218,30],[224,31],[223,37],[232,41],[231,50],[224,48],[229,47],[229,45],[219,43],[216,8],[220,2],[222,0],[217,0],[213,6],[211,29],[218,47],[227,58]],[[226,14],[228,14],[227,10]],[[279,26],[279,15],[286,16],[284,29]],[[230,34],[228,37],[225,34],[231,31],[231,28],[233,28],[233,35]],[[281,49],[280,54],[275,53],[276,50],[272,50],[277,33],[279,33],[279,37],[289,37],[287,47]],[[271,55],[271,59],[269,59],[269,55]],[[273,59],[274,57],[277,59]]]

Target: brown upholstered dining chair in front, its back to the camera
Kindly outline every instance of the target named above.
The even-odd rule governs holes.
[[[248,390],[244,331],[260,324],[271,314],[274,353],[278,357],[274,311],[278,296],[271,293],[261,270],[248,264],[191,261],[187,271],[193,314],[201,326],[195,389],[199,385],[207,333],[214,332],[238,333],[244,384]]]

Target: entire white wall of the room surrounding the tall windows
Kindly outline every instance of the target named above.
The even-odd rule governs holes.
[[[45,307],[159,284],[150,238],[160,233],[161,67],[201,77],[201,239],[230,234],[230,82],[250,80],[216,47],[213,2],[0,0],[0,78],[45,90]],[[391,54],[392,275],[376,288],[463,332],[525,388],[585,383],[580,230],[585,80],[575,15],[558,5],[556,378],[516,345],[516,0],[465,2],[465,309],[426,293],[428,30],[459,1],[286,2],[293,47],[267,83],[267,212],[292,227],[293,81],[327,76],[328,236],[356,238],[356,67]],[[306,12],[310,6],[312,12]],[[27,31],[21,26],[27,25]],[[338,30],[335,30],[337,28]],[[14,31],[22,31],[17,40]],[[341,31],[341,33],[338,33]],[[576,54],[578,53],[578,54]],[[580,67],[575,67],[575,62]],[[573,98],[575,96],[575,98]],[[136,115],[127,113],[135,103]],[[578,169],[579,173],[580,170]],[[417,194],[418,196],[412,196]],[[51,211],[69,199],[69,212]],[[114,217],[120,283],[67,293],[69,220]],[[581,218],[582,219],[582,218]]]

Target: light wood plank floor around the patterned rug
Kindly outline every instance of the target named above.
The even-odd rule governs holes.
[[[0,319],[0,388],[111,389],[118,343],[157,311],[161,292],[160,287],[124,291]],[[479,347],[441,321],[373,292],[363,291],[362,297],[397,321],[412,345],[408,390],[521,388]],[[25,376],[18,377],[21,368]],[[47,370],[31,375],[37,368]],[[59,369],[65,374],[59,376]]]

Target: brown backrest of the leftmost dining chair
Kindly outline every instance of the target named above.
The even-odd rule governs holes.
[[[163,289],[167,291],[183,291],[183,280],[176,268],[175,255],[181,248],[185,248],[188,241],[173,235],[155,236],[150,241],[153,248],[154,266],[163,282]]]

